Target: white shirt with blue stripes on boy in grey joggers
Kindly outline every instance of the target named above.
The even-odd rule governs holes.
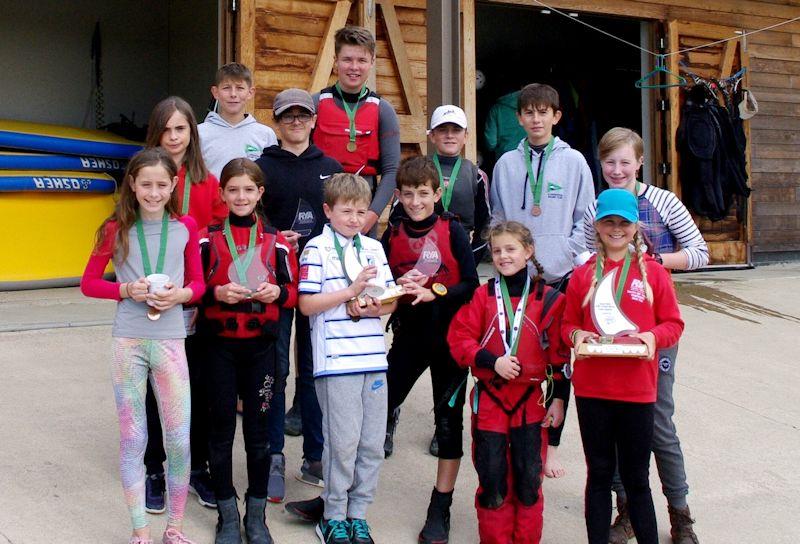
[[[322,234],[309,240],[300,256],[300,295],[332,293],[347,289],[345,277],[333,237],[342,247],[350,240],[334,233],[325,225]],[[378,276],[372,280],[394,287],[394,279],[380,242],[361,236],[361,257],[374,262]],[[386,343],[379,317],[362,317],[353,321],[344,304],[311,315],[311,345],[314,356],[314,377],[337,374],[383,372],[387,369]]]

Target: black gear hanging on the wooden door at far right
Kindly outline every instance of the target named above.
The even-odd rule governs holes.
[[[681,186],[693,211],[718,221],[728,215],[734,195],[749,196],[744,150],[729,111],[702,85],[689,91],[677,143]]]

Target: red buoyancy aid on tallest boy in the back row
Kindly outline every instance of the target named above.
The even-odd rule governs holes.
[[[359,101],[356,110],[356,150],[348,151],[350,119],[347,112],[336,105],[334,87],[323,89],[317,106],[317,125],[314,145],[327,156],[336,159],[345,172],[374,176],[380,165],[381,147],[378,139],[380,97],[372,91]],[[338,94],[338,93],[337,93]]]

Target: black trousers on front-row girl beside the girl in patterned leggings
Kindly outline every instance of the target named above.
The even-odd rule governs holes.
[[[275,340],[213,338],[209,340],[209,406],[211,480],[219,500],[233,497],[233,440],[236,400],[242,399],[242,434],[247,453],[247,494],[266,498],[269,476],[267,413],[276,375]]]

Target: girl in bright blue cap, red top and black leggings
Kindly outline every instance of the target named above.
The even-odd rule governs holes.
[[[587,464],[585,517],[590,544],[608,543],[617,457],[637,542],[658,542],[649,484],[656,354],[677,343],[683,321],[669,274],[645,253],[638,222],[636,197],[630,191],[601,193],[594,221],[597,253],[575,270],[567,288],[562,331],[576,351],[600,336],[591,308],[599,282],[609,275],[617,308],[636,326],[628,336],[647,346],[647,355],[639,359],[586,357],[574,364],[572,384]]]

